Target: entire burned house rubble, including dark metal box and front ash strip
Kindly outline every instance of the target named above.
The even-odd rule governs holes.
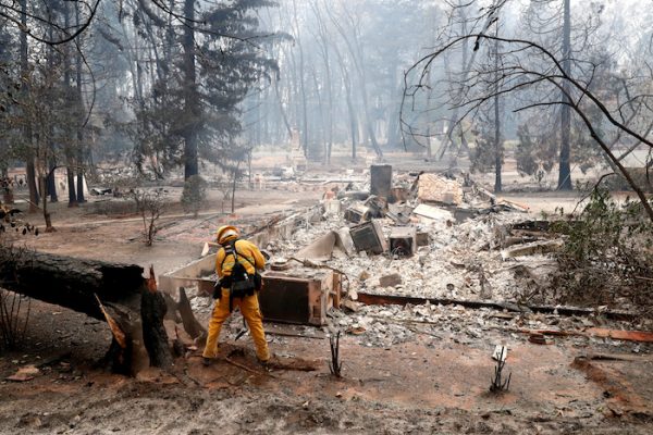
[[[547,291],[557,268],[550,252],[565,239],[547,221],[529,219],[527,207],[469,178],[422,173],[392,181],[390,171],[389,181],[386,166],[370,183],[331,186],[318,207],[250,233],[270,254],[268,279],[280,279],[261,299],[262,308],[276,310],[274,320],[322,325],[380,348],[418,337],[501,343],[506,331],[515,339],[541,337],[539,344],[564,336],[579,347],[644,346],[589,333],[625,328],[618,316],[572,307],[558,312]],[[195,265],[198,285],[213,273],[210,258],[200,261],[207,268]],[[198,297],[192,304],[208,312],[211,303]]]

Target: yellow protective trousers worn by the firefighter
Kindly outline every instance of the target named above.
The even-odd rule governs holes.
[[[270,351],[268,350],[268,341],[266,341],[266,332],[263,331],[263,316],[258,304],[258,297],[255,295],[246,296],[243,299],[234,298],[232,300],[233,308],[239,307],[247,326],[249,326],[249,334],[256,346],[256,356],[260,361],[268,361],[270,359]],[[220,330],[222,324],[230,316],[229,311],[229,290],[222,289],[222,297],[215,301],[213,307],[213,314],[209,321],[209,336],[207,338],[207,345],[202,356],[205,358],[215,358],[218,355],[218,337],[220,336]]]

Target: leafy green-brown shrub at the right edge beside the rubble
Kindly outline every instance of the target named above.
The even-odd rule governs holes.
[[[653,313],[653,225],[641,203],[619,204],[596,188],[579,220],[555,225],[567,235],[553,278],[559,302],[630,304]]]

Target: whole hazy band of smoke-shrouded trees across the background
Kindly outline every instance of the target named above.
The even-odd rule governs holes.
[[[74,206],[98,160],[235,178],[255,147],[296,138],[324,163],[335,149],[469,157],[497,191],[509,151],[569,189],[574,169],[621,172],[653,127],[652,12],[583,4],[0,0],[0,171],[25,162],[36,204],[58,200],[65,167]]]

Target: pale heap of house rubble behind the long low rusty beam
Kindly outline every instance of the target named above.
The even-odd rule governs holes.
[[[555,266],[546,253],[562,240],[537,225],[529,229],[523,207],[497,200],[469,179],[422,173],[407,183],[404,174],[399,186],[392,185],[389,167],[372,166],[369,185],[328,191],[320,221],[306,220],[266,249],[280,258],[300,252],[303,260],[342,271],[352,299],[357,293],[507,301],[543,296],[532,289],[545,284]]]

